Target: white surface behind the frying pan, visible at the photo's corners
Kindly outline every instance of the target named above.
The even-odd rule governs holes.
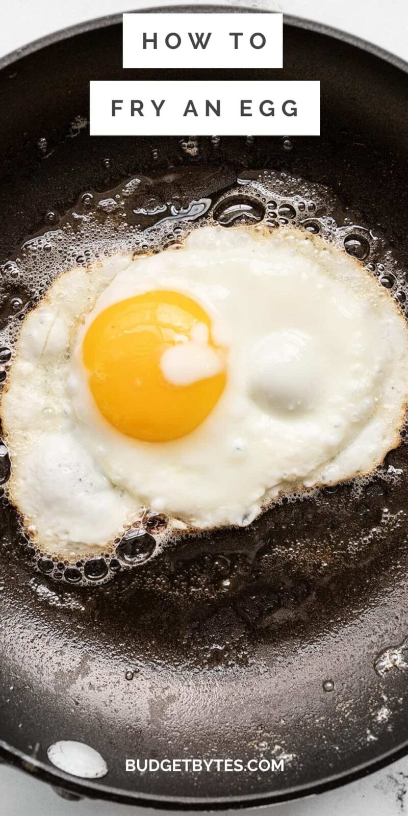
[[[221,0],[220,0],[221,2]],[[239,5],[238,0],[224,0]],[[0,56],[27,42],[91,17],[137,7],[155,7],[164,2],[149,0],[2,0]],[[168,2],[167,5],[176,5]],[[247,7],[283,11],[319,20],[353,33],[408,60],[407,0],[246,0]],[[401,816],[408,814],[408,758],[387,769],[339,788],[289,805],[259,811],[260,816]],[[108,803],[60,800],[47,786],[28,775],[0,768],[0,812],[2,816],[153,816]],[[157,811],[156,811],[157,812]],[[254,813],[254,811],[251,811]],[[163,814],[164,816],[164,814]],[[242,816],[244,816],[242,812]]]

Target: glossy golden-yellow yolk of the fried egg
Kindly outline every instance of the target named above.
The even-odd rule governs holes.
[[[174,291],[153,291],[119,301],[101,312],[86,331],[83,361],[104,418],[135,439],[152,442],[184,437],[211,413],[224,390],[219,373],[188,385],[166,380],[160,360],[166,348],[188,342],[197,323],[211,320],[193,299]]]

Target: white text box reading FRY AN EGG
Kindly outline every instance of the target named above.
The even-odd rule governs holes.
[[[320,82],[90,82],[91,135],[320,135]]]

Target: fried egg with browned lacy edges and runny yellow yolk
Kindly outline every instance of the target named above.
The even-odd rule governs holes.
[[[25,318],[2,421],[11,500],[46,551],[144,508],[246,525],[397,446],[408,331],[362,265],[295,228],[195,228],[63,273]]]

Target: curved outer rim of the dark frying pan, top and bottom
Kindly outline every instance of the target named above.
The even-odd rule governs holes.
[[[157,6],[149,9],[138,8],[130,13],[163,13],[171,11],[171,13],[180,13],[190,7],[188,2],[177,6]],[[261,9],[254,9],[251,7],[231,7],[224,6],[222,3],[208,6],[206,3],[194,5],[194,11],[228,11],[228,13],[243,12],[257,12]],[[130,11],[130,10],[129,10]],[[42,38],[33,40],[26,45],[16,48],[9,54],[0,58],[0,71],[15,64],[18,60],[24,59],[25,56],[41,51],[47,46],[55,45],[65,39],[77,36],[78,34],[87,33],[96,29],[106,28],[109,25],[119,24],[122,21],[122,13],[115,13],[113,15],[96,17],[91,20],[86,20],[78,24],[73,24],[64,29],[59,29],[51,32]],[[348,45],[357,47],[361,51],[374,55],[379,60],[384,60],[393,67],[400,69],[404,73],[408,73],[408,62],[401,57],[392,54],[390,51],[376,46],[374,43],[368,42],[363,38],[355,37],[353,34],[344,32],[341,29],[336,29],[330,25],[318,23],[315,20],[307,20],[297,16],[284,14],[284,24],[292,26],[297,29],[304,29],[322,33],[327,37],[335,38],[340,42],[345,42]],[[372,760],[355,765],[352,769],[340,771],[337,774],[332,774],[326,778],[297,785],[286,789],[284,792],[267,792],[263,795],[254,794],[253,796],[224,796],[220,798],[201,798],[183,796],[180,798],[173,796],[159,796],[148,794],[140,794],[139,792],[124,792],[123,789],[117,787],[109,787],[100,783],[86,780],[86,782],[77,781],[69,774],[65,774],[59,769],[52,768],[45,762],[33,759],[33,756],[20,752],[10,743],[0,739],[0,761],[6,761],[9,765],[15,766],[18,769],[24,770],[25,773],[33,774],[36,778],[51,784],[56,788],[63,788],[64,791],[72,792],[74,795],[88,799],[100,799],[117,802],[118,804],[136,805],[140,807],[150,807],[166,810],[225,810],[225,809],[255,809],[258,807],[266,807],[268,805],[278,804],[285,801],[296,800],[305,796],[313,796],[318,793],[334,790],[336,787],[352,783],[357,779],[375,773],[387,765],[391,764],[403,756],[408,754],[408,740],[404,743],[399,743],[396,747],[389,749],[387,752],[380,754]],[[62,784],[61,784],[62,783]]]

